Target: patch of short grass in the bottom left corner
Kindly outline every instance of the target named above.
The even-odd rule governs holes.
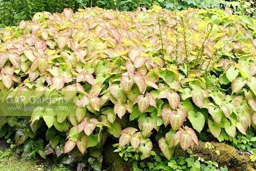
[[[36,160],[19,159],[18,155],[12,149],[0,150],[0,170],[5,171],[69,171],[63,165],[52,166],[45,161],[37,165]]]

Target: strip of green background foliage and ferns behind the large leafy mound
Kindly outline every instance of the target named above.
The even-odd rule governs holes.
[[[255,2],[248,0],[212,1],[212,0],[0,0],[0,27],[18,25],[21,20],[29,20],[36,12],[62,12],[64,8],[76,11],[78,8],[98,6],[104,9],[119,11],[134,11],[138,7],[151,9],[153,5],[160,5],[169,10],[186,10],[188,8],[225,9],[231,8],[234,14],[255,17]]]

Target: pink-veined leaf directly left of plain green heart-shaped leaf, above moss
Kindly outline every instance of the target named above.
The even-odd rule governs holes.
[[[172,111],[169,115],[170,117],[170,125],[173,130],[179,130],[185,121],[182,113],[178,113],[177,111]]]

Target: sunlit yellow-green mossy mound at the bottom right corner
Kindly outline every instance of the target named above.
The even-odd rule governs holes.
[[[208,148],[205,142],[199,142],[199,146],[194,148],[193,153],[204,157],[206,161],[215,161],[220,166],[228,166],[232,170],[255,170],[249,156],[238,154],[234,147],[225,143],[211,142],[211,144],[214,148]]]

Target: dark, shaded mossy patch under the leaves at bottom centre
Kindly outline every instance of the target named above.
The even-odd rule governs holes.
[[[103,147],[103,165],[108,167],[110,171],[130,170],[129,163],[120,157],[119,153],[114,152],[113,142],[107,140]]]

